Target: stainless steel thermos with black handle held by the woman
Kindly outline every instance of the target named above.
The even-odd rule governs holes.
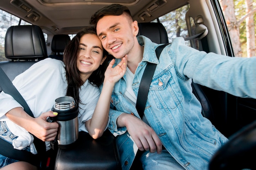
[[[78,105],[74,98],[64,96],[55,100],[52,111],[56,111],[58,115],[51,119],[58,122],[58,147],[67,148],[68,145],[74,143],[78,139]]]

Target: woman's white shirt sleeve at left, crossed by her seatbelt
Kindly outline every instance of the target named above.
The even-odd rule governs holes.
[[[65,74],[62,61],[44,59],[32,65],[28,70],[16,76],[13,85],[29,105],[35,117],[49,111],[54,100],[65,94],[66,84],[62,74]],[[62,83],[61,83],[62,82]],[[60,90],[61,89],[61,90]],[[52,101],[49,101],[49,100]],[[12,96],[0,94],[0,120],[9,110],[21,107]]]

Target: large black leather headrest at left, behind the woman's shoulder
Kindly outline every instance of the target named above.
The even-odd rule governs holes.
[[[9,27],[5,35],[4,51],[7,59],[45,59],[47,48],[42,29],[36,25]]]

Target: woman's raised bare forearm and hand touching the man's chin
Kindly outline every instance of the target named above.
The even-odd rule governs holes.
[[[126,57],[127,55],[123,57],[120,63],[118,63],[118,65],[116,65],[114,68],[112,68],[112,66],[115,63],[115,59],[110,61],[105,72],[105,79],[103,82],[101,95],[92,115],[92,119],[85,122],[86,129],[94,139],[101,137],[108,124],[111,94],[115,83],[119,81],[119,79],[122,78],[126,72]]]

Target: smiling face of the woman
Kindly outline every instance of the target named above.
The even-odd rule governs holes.
[[[106,57],[103,58],[103,47],[98,36],[85,34],[80,39],[80,51],[77,58],[77,68],[80,71],[83,82],[99,68]]]

